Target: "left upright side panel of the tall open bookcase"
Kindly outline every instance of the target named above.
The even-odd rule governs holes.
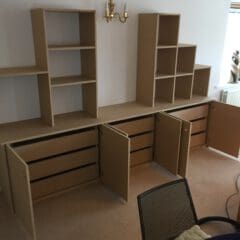
[[[42,9],[31,11],[35,58],[38,67],[48,71],[48,45],[46,36],[45,12]],[[42,119],[54,126],[52,97],[49,75],[38,76],[39,101]]]

